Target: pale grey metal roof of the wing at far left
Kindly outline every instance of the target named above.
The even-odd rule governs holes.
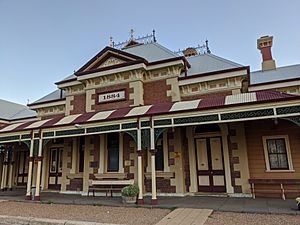
[[[36,117],[27,106],[0,99],[0,119],[11,121]]]

